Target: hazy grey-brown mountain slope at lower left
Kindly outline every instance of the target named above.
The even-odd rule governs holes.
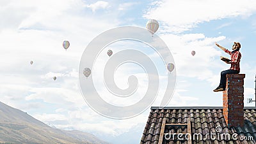
[[[82,131],[65,131],[0,102],[0,143],[107,143]]]

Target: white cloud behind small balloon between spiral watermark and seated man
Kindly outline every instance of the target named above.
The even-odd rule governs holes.
[[[224,66],[219,61],[223,53],[216,48],[214,42],[224,40],[225,36],[207,38],[204,34],[164,34],[161,38],[166,41],[173,54],[178,76],[207,80],[214,75],[214,68],[220,69],[220,66]],[[192,50],[196,52],[194,56],[191,55]]]

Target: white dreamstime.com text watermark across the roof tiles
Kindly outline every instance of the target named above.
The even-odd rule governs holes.
[[[215,128],[216,133],[165,133],[164,139],[165,140],[240,140],[240,141],[253,141],[253,136],[242,136],[237,133],[223,133],[221,126],[217,126]]]

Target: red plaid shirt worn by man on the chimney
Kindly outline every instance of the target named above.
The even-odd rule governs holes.
[[[232,52],[230,52],[229,50],[225,50],[225,52],[227,52],[227,54],[231,55],[231,67],[230,69],[236,70],[236,71],[240,71],[240,59],[241,59],[241,53],[239,51],[236,51],[232,54]]]

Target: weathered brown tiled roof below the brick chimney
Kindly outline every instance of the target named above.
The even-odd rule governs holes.
[[[165,119],[164,119],[165,118]],[[188,119],[191,121],[191,138],[192,143],[256,143],[256,108],[244,107],[244,126],[243,127],[227,127],[223,117],[222,107],[167,107],[157,108],[152,107],[147,124],[142,134],[140,143],[159,142],[162,122],[166,124],[187,124]],[[221,128],[220,133],[238,134],[237,140],[230,138],[217,138],[214,140],[209,136],[209,133],[215,133],[216,127]],[[170,126],[166,125],[164,133],[188,133],[186,126]],[[199,138],[193,139],[193,134],[202,134],[204,140]],[[208,135],[207,135],[208,134]],[[247,138],[250,140],[242,140]],[[253,140],[252,140],[253,138]],[[178,140],[173,138],[166,140],[163,138],[163,143],[188,143],[187,140]]]

